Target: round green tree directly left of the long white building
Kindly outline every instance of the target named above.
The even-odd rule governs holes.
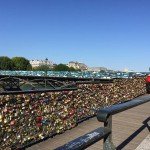
[[[31,70],[32,66],[28,59],[24,57],[13,57],[14,70]]]

